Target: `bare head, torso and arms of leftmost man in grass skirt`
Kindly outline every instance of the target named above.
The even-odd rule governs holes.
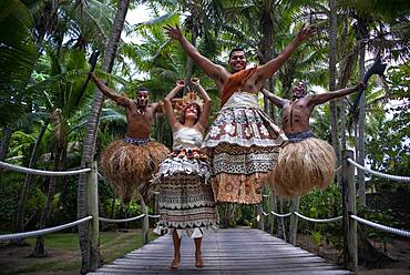
[[[91,80],[100,89],[100,91],[117,105],[125,108],[126,113],[126,135],[134,139],[148,139],[151,125],[154,122],[155,112],[161,112],[158,103],[148,103],[148,91],[139,91],[134,100],[114,93],[93,72],[90,72]]]

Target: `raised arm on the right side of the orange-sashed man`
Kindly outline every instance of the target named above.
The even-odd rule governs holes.
[[[279,55],[268,61],[266,64],[260,65],[255,73],[256,78],[256,86],[262,86],[265,83],[265,80],[270,78],[280,67],[281,64],[296,51],[301,42],[310,38],[316,30],[314,28],[305,28],[301,27],[297,37],[291,41]],[[263,83],[262,83],[263,82]]]

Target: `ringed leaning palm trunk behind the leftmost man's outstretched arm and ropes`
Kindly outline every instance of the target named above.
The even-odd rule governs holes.
[[[104,59],[102,64],[102,71],[111,72],[114,59],[116,54],[116,49],[119,47],[121,32],[124,27],[125,16],[129,10],[130,0],[122,0],[119,1],[117,10],[115,13],[115,19],[113,22],[112,31],[106,43]],[[94,92],[94,101],[92,105],[92,110],[90,112],[89,121],[88,121],[88,132],[83,141],[83,153],[81,160],[82,167],[91,167],[92,161],[94,159],[95,153],[95,141],[96,141],[96,131],[99,128],[101,109],[103,103],[104,96],[103,94],[95,89]],[[86,194],[86,174],[81,174],[78,185],[78,218],[85,217],[88,215],[88,194]],[[80,248],[81,248],[81,259],[82,259],[82,267],[81,273],[85,274],[89,272],[89,245],[90,241],[88,237],[88,224],[79,225],[79,238],[80,238]]]

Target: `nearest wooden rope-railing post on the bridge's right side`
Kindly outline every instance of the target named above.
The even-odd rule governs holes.
[[[355,272],[358,266],[357,222],[350,218],[350,214],[356,214],[356,185],[355,166],[348,162],[348,159],[353,160],[353,151],[344,152],[342,163],[345,265],[349,271]]]

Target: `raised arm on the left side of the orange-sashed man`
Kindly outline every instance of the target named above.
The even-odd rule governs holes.
[[[221,83],[225,82],[224,78],[228,78],[228,75],[225,75],[225,69],[202,55],[199,51],[182,34],[178,26],[172,27],[168,24],[164,29],[170,38],[180,41],[181,45],[184,48],[189,58],[192,58],[198,64],[198,67],[201,67],[206,75]]]

